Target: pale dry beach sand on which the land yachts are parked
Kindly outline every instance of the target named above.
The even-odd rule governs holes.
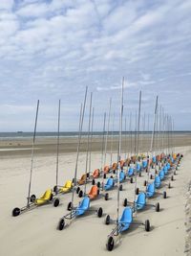
[[[38,147],[38,146],[36,146]],[[3,147],[2,147],[3,148]],[[159,201],[161,211],[155,212],[148,207],[137,214],[135,220],[149,219],[152,231],[146,233],[142,226],[132,226],[125,232],[113,252],[106,250],[106,240],[114,224],[105,225],[105,214],[116,219],[117,190],[110,192],[110,199],[99,198],[92,201],[91,206],[103,208],[104,216],[99,219],[95,213],[87,214],[76,219],[62,231],[56,230],[57,223],[67,212],[67,204],[71,194],[60,196],[60,205],[38,207],[16,218],[11,217],[15,206],[26,204],[29,184],[31,158],[29,153],[3,154],[0,166],[0,255],[1,256],[59,256],[59,255],[184,255],[185,246],[185,213],[186,191],[191,179],[191,149],[180,147],[176,151],[184,154],[178,175],[172,181],[173,188],[162,187],[159,192],[166,190],[168,198],[158,194],[149,199],[149,203]],[[36,154],[32,175],[32,194],[38,197],[48,188],[53,188],[55,182],[55,154]],[[109,162],[109,156],[107,161]],[[75,153],[61,153],[59,160],[59,181],[64,183],[74,176]],[[100,153],[92,154],[92,169],[100,167]],[[78,177],[85,170],[85,153],[79,157]],[[144,174],[138,177],[138,187],[144,189]],[[134,199],[135,184],[125,182],[120,193],[120,213],[123,209],[122,200]],[[91,185],[88,185],[88,190]],[[74,195],[77,205],[80,198]],[[187,220],[187,219],[186,219]],[[187,255],[190,255],[189,253]]]

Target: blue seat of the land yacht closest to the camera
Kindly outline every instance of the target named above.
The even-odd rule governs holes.
[[[133,221],[133,210],[131,207],[125,207],[122,215],[118,221],[118,224],[121,226],[120,232],[127,230],[130,224]]]

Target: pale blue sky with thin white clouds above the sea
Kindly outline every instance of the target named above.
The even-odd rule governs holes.
[[[60,129],[77,130],[86,86],[84,128],[93,92],[94,129],[110,98],[117,129],[123,77],[127,126],[141,90],[141,120],[159,95],[190,130],[190,13],[190,0],[0,0],[0,131],[31,131],[38,99],[37,130],[56,130],[59,99]]]

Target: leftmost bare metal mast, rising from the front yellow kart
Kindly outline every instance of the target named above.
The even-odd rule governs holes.
[[[32,188],[32,170],[33,170],[33,152],[34,152],[34,143],[35,143],[35,137],[36,137],[37,120],[38,120],[38,108],[39,108],[39,100],[37,101],[35,123],[34,123],[34,129],[33,129],[32,160],[31,160],[29,191],[28,191],[28,197],[27,197],[27,207],[30,207],[30,195],[31,195],[31,188]]]

